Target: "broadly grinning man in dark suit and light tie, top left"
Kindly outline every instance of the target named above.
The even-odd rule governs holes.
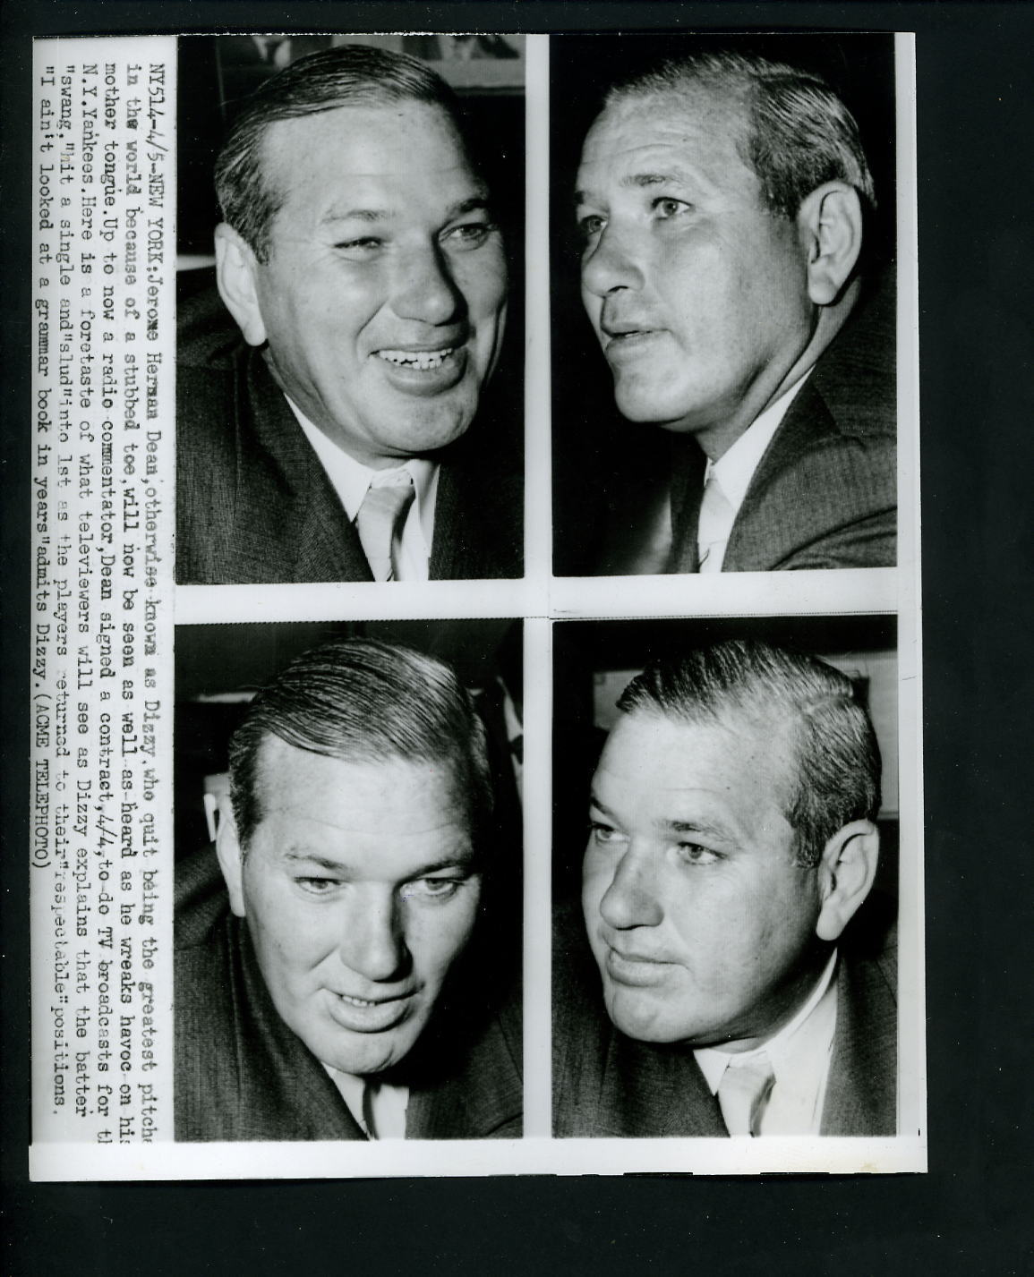
[[[216,190],[239,335],[180,309],[178,580],[520,575],[519,467],[498,423],[467,437],[507,281],[449,86],[378,49],[303,57],[244,101]]]

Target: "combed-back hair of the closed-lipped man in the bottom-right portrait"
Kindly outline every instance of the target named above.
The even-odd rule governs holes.
[[[693,724],[746,720],[773,736],[773,748],[785,730],[791,752],[783,815],[799,865],[817,865],[845,825],[877,817],[876,732],[850,678],[815,656],[758,640],[700,647],[651,665],[629,683],[617,707]]]

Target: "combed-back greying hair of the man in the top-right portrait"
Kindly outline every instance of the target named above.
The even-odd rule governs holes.
[[[876,208],[855,117],[813,72],[736,52],[693,54],[615,84],[606,105],[698,86],[743,105],[746,128],[737,148],[773,213],[796,217],[803,200],[827,181],[846,181],[867,213]]]

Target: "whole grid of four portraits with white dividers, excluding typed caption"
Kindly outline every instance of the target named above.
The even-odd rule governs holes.
[[[924,1168],[911,66],[180,38],[175,1129],[221,1174]]]

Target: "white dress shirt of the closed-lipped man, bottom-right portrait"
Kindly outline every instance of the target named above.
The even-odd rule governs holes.
[[[833,953],[808,1001],[767,1042],[739,1054],[717,1047],[693,1052],[712,1096],[718,1093],[727,1068],[746,1064],[762,1054],[768,1056],[776,1080],[760,1116],[758,1133],[762,1135],[819,1134],[836,1032],[836,960]]]

